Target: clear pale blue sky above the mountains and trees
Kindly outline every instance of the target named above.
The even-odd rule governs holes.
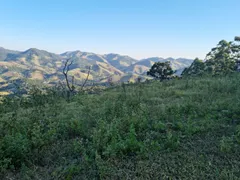
[[[0,46],[204,58],[240,35],[240,0],[0,0]]]

